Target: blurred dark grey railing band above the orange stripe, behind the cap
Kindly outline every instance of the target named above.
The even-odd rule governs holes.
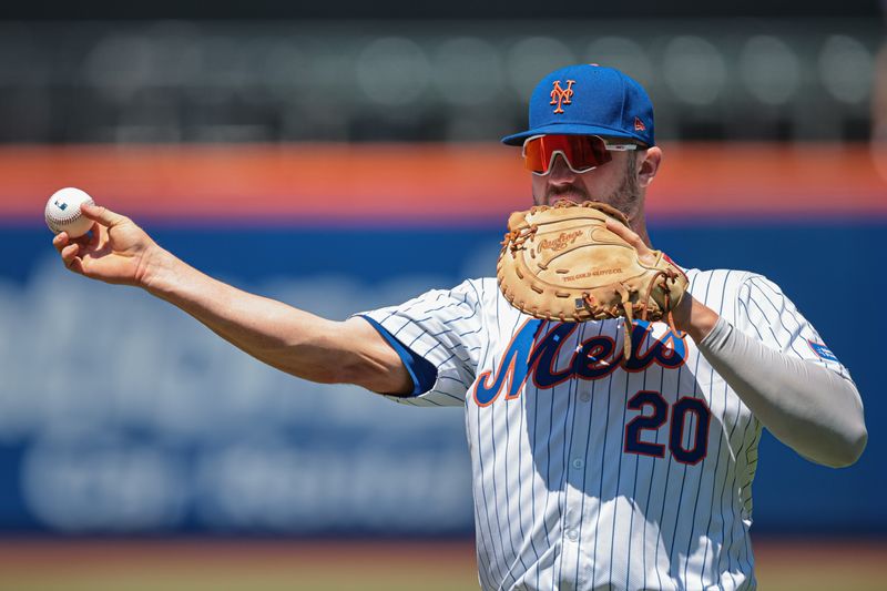
[[[663,140],[859,141],[883,42],[876,19],[7,22],[0,142],[489,141],[578,62],[642,81]]]

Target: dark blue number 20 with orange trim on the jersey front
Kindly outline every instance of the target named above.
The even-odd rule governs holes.
[[[641,440],[641,434],[655,431],[669,420],[669,403],[655,390],[641,390],[629,400],[631,410],[644,411],[652,408],[652,415],[639,415],[625,425],[625,452],[665,457],[665,446]],[[695,416],[695,434],[691,437],[692,447],[684,447],[684,424],[687,414]],[[672,405],[671,425],[669,426],[669,451],[681,463],[699,463],[708,451],[708,424],[712,411],[704,400],[684,397]]]

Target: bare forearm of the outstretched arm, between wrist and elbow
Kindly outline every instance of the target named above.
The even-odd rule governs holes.
[[[312,381],[346,379],[341,323],[216,281],[165,251],[145,264],[141,285],[257,359]]]

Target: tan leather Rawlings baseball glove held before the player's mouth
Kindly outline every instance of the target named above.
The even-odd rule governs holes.
[[[638,251],[606,228],[625,216],[603,203],[560,201],[514,212],[499,253],[497,276],[506,299],[547,320],[588,322],[624,317],[624,358],[634,318],[667,318],[687,287],[686,276],[661,251],[644,264]]]

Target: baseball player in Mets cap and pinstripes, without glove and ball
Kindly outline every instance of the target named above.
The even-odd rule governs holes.
[[[644,90],[564,68],[529,120],[503,142],[521,147],[534,203],[608,203],[631,225],[611,230],[652,256],[644,195],[662,151]],[[93,238],[54,240],[71,271],[140,286],[295,376],[465,407],[483,589],[754,589],[762,428],[826,466],[866,444],[847,369],[754,273],[684,268],[679,332],[635,322],[626,357],[623,319],[536,319],[495,278],[332,322],[203,275],[122,215],[84,214]]]

